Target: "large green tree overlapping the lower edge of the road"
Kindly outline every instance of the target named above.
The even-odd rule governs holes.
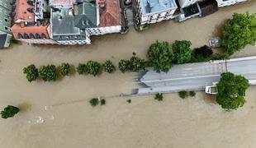
[[[249,88],[249,81],[244,76],[226,72],[221,74],[217,84],[218,95],[216,102],[223,109],[237,109],[244,105],[245,91]]]

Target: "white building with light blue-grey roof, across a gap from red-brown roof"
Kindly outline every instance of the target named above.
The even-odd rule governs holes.
[[[174,0],[136,0],[136,7],[140,25],[172,19],[178,8]]]

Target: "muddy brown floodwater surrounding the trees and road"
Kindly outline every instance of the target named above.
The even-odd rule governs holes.
[[[15,45],[0,51],[0,107],[21,108],[15,118],[0,122],[0,147],[4,148],[255,148],[256,88],[247,91],[244,107],[225,112],[214,97],[179,99],[177,94],[126,99],[110,97],[136,88],[135,73],[103,73],[102,76],[73,74],[55,83],[26,81],[21,70],[36,66],[111,59],[117,65],[132,52],[145,58],[155,40],[190,39],[193,47],[207,44],[218,35],[224,19],[234,12],[256,12],[256,1],[221,8],[205,18],[181,23],[164,21],[138,33],[93,37],[88,46]],[[256,55],[248,46],[235,57]],[[88,100],[107,96],[107,104],[92,108]]]

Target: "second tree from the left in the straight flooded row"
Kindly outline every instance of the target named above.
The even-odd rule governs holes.
[[[56,67],[55,65],[47,65],[40,67],[39,76],[43,81],[56,81]]]

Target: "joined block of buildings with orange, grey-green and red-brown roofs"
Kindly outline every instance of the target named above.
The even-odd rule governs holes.
[[[17,0],[12,34],[27,44],[91,44],[121,31],[120,0]]]

